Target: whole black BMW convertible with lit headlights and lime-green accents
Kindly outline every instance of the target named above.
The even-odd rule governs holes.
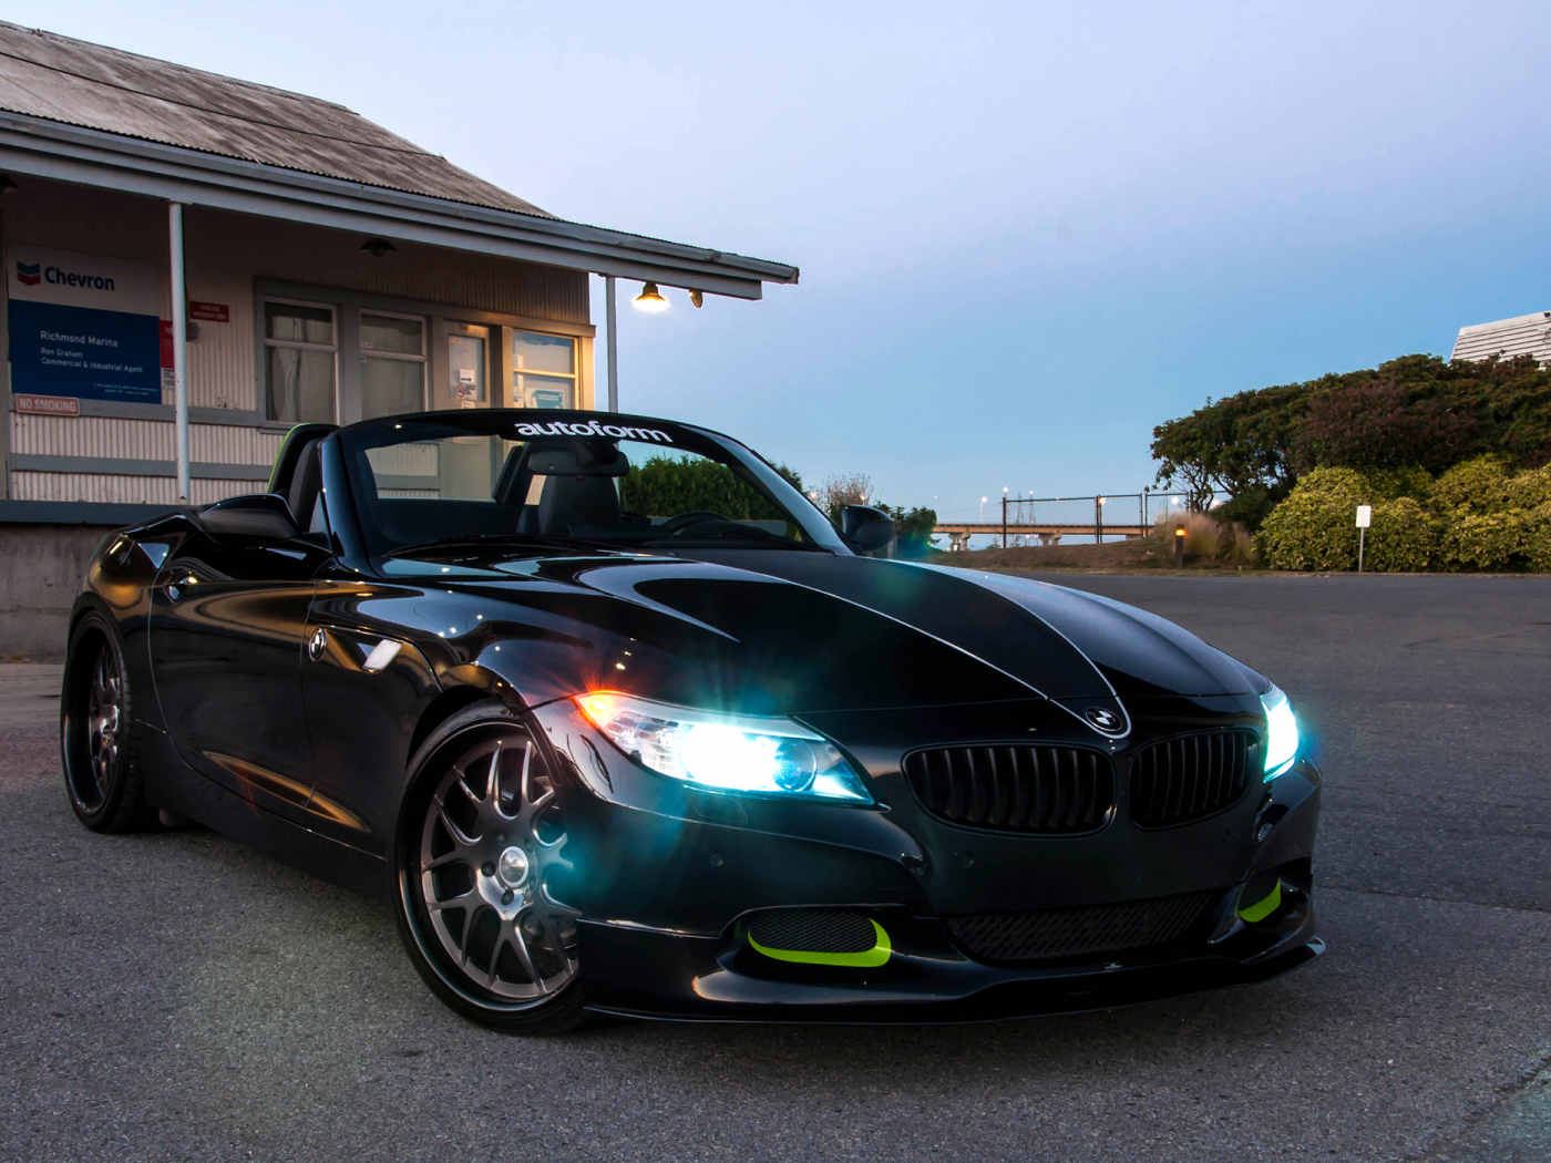
[[[98,549],[70,802],[389,901],[507,1031],[1070,1013],[1323,951],[1281,690],[892,537],[668,420],[302,425],[268,492]]]

